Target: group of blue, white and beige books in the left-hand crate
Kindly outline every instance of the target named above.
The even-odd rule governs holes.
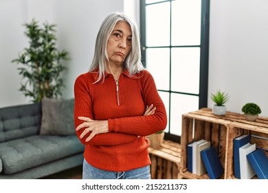
[[[218,179],[224,173],[216,149],[211,146],[210,141],[194,141],[188,144],[187,152],[189,172],[197,175],[208,172],[210,179]]]

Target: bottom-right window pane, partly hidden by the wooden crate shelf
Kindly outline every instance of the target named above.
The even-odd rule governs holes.
[[[171,93],[170,133],[181,136],[181,115],[199,109],[199,97]]]

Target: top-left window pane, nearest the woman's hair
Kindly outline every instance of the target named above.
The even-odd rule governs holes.
[[[170,45],[170,2],[146,6],[146,46]]]

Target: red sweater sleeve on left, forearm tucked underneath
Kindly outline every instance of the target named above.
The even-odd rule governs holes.
[[[74,83],[74,123],[75,127],[83,123],[83,121],[78,119],[78,116],[86,116],[90,119],[94,119],[93,117],[93,110],[92,110],[92,103],[91,97],[89,94],[89,83],[93,83],[93,81],[89,80],[89,74],[82,74],[80,75],[75,83]],[[82,128],[81,130],[76,132],[78,139],[80,134],[85,130]],[[91,132],[89,132],[90,134]],[[83,144],[91,144],[91,145],[119,145],[122,143],[129,143],[137,139],[137,135],[133,134],[126,134],[120,132],[108,132],[105,134],[98,134],[93,137],[89,142],[85,142],[87,139],[87,134],[80,142]]]

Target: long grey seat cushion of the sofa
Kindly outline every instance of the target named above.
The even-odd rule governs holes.
[[[2,173],[14,174],[30,167],[83,152],[76,135],[34,135],[0,143]]]

